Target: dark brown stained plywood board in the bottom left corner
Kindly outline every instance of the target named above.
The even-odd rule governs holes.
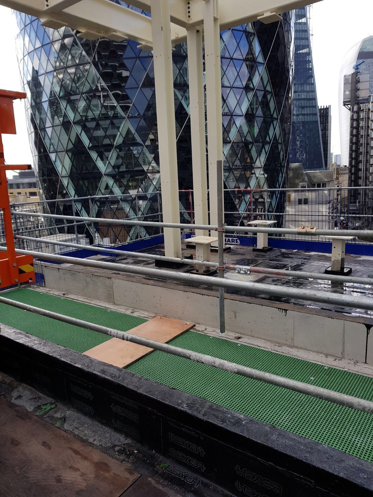
[[[113,497],[139,474],[0,398],[0,496]]]

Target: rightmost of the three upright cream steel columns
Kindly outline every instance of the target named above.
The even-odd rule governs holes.
[[[217,0],[205,0],[203,11],[206,74],[207,156],[210,224],[217,225],[217,161],[223,160],[220,29]],[[214,244],[216,246],[216,244]]]

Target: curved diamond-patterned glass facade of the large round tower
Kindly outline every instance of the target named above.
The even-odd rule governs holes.
[[[139,198],[142,215],[156,213],[159,196],[152,193],[160,189],[160,172],[152,53],[131,40],[84,40],[69,28],[44,28],[37,18],[15,15],[29,136],[45,198],[118,195],[125,198],[121,217],[139,213]],[[292,31],[289,12],[280,22],[221,33],[225,188],[275,188],[284,181]],[[182,190],[193,187],[186,48],[179,44],[173,52]],[[225,196],[226,210],[237,220],[247,195]],[[268,197],[269,212],[277,200]],[[76,205],[87,213],[87,201]],[[188,216],[185,212],[184,220]]]

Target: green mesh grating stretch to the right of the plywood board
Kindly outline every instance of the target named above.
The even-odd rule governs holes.
[[[187,331],[173,345],[373,400],[373,378]],[[154,351],[127,368],[153,381],[373,462],[373,415]]]

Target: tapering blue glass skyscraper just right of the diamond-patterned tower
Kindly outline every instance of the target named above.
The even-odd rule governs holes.
[[[306,7],[295,10],[290,164],[325,168]]]

